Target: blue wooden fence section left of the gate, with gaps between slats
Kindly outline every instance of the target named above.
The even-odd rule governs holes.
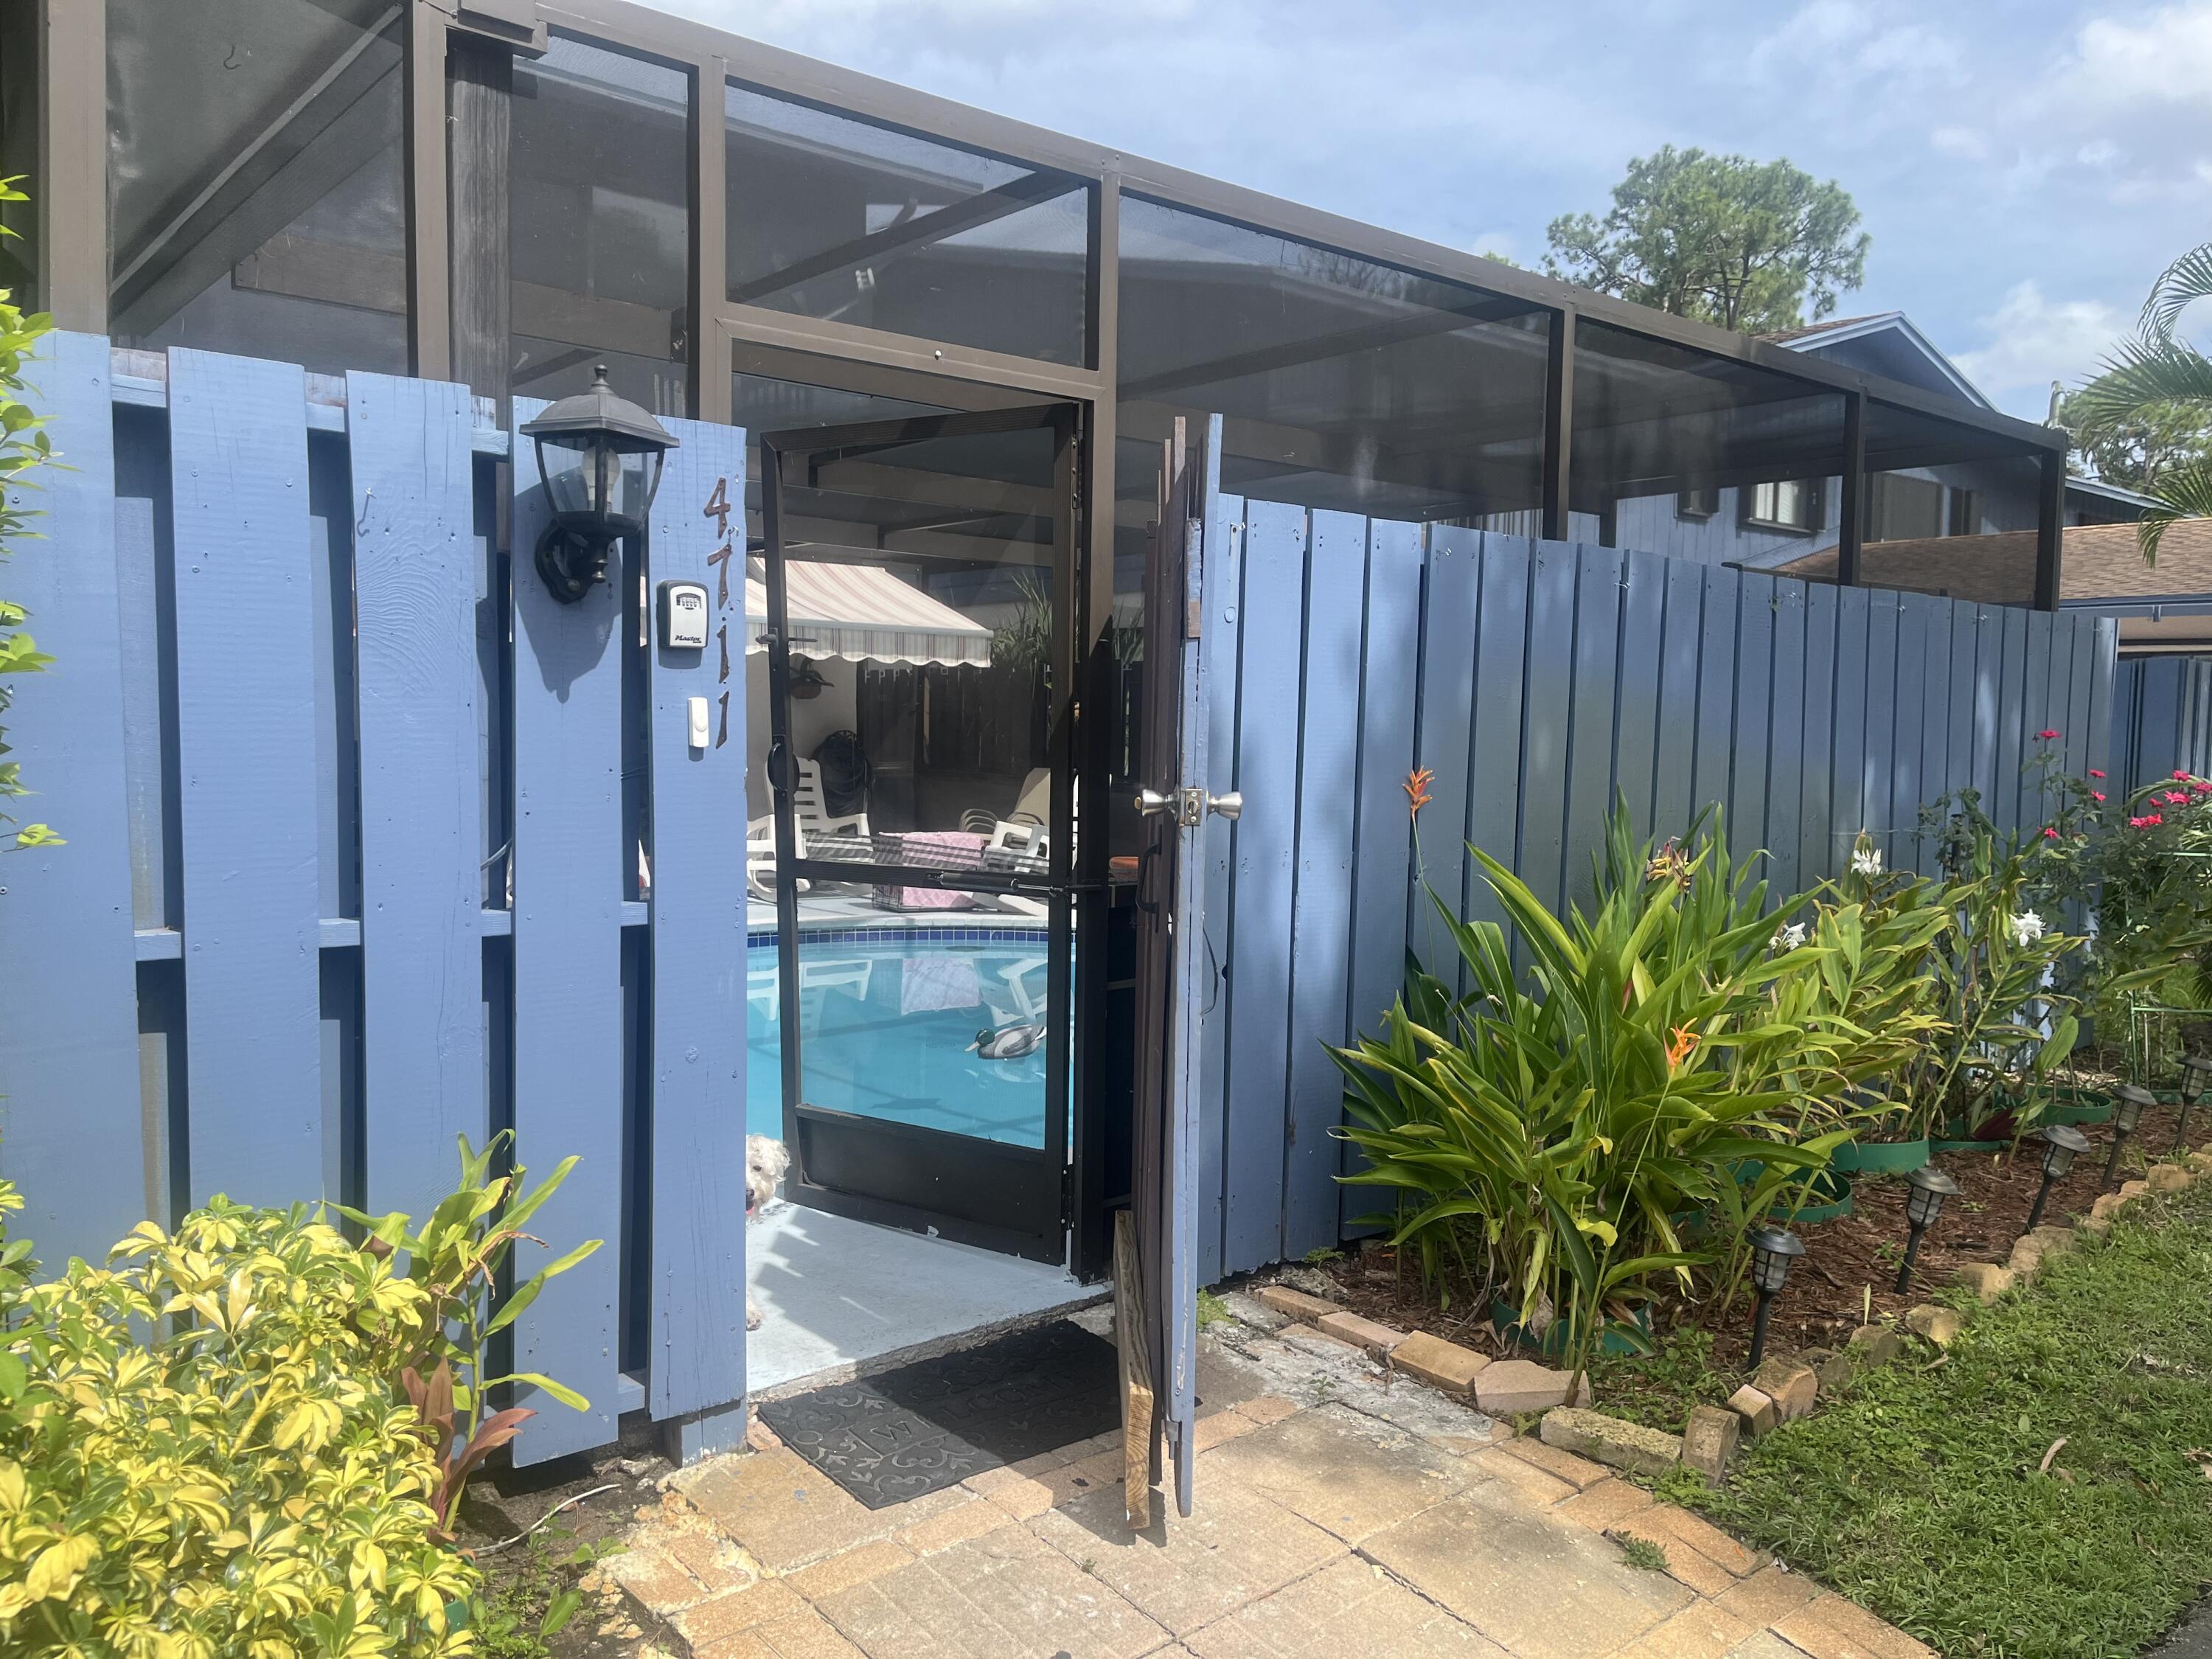
[[[58,661],[11,737],[69,845],[0,874],[22,1232],[60,1265],[215,1192],[420,1214],[456,1133],[513,1128],[584,1159],[535,1228],[606,1241],[515,1327],[591,1398],[526,1389],[522,1460],[639,1407],[741,1431],[745,752],[686,701],[741,734],[743,677],[641,641],[635,549],[577,606],[509,580],[544,493],[465,387],[66,334],[38,385],[69,469],[11,591]],[[650,575],[703,580],[743,434],[668,425]]]

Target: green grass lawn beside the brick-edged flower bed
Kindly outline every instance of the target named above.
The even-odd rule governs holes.
[[[1953,1659],[2141,1652],[2212,1579],[2212,1181],[1677,1495]]]

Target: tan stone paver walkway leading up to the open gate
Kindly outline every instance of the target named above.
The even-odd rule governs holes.
[[[606,1571],[646,1652],[695,1659],[1929,1655],[1338,1343],[1208,1334],[1199,1394],[1197,1513],[1144,1535],[1106,1436],[869,1511],[757,1427],[754,1451],[672,1475]]]

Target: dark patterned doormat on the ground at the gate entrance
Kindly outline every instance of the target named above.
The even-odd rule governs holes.
[[[1113,1343],[1079,1325],[1011,1332],[761,1407],[783,1444],[869,1509],[1121,1427]]]

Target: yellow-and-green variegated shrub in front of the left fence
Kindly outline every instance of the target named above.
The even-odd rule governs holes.
[[[7,1292],[0,1648],[469,1652],[449,1608],[478,1571],[389,1387],[429,1292],[305,1206],[215,1199],[113,1263]]]

